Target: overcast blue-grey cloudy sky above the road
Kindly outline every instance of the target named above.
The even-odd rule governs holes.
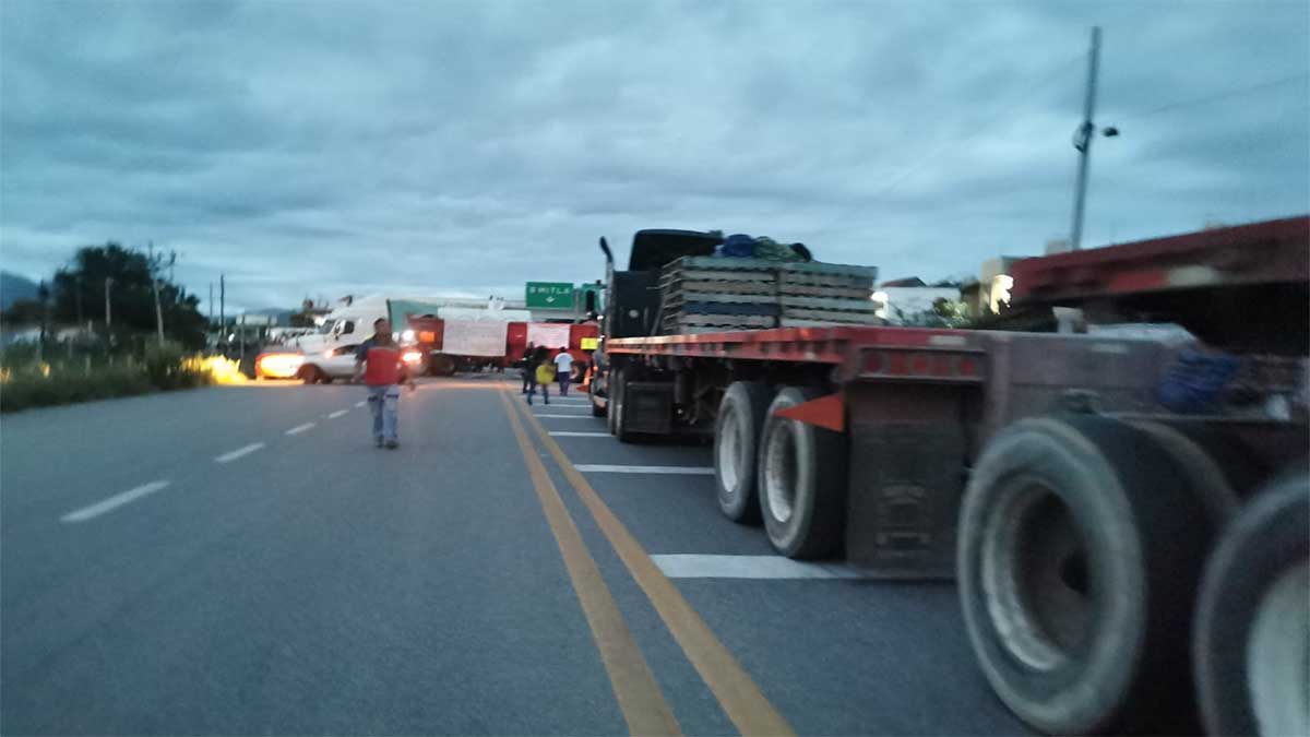
[[[1096,24],[1085,245],[1310,210],[1303,1],[4,0],[0,266],[517,296],[680,227],[976,273],[1068,233]]]

